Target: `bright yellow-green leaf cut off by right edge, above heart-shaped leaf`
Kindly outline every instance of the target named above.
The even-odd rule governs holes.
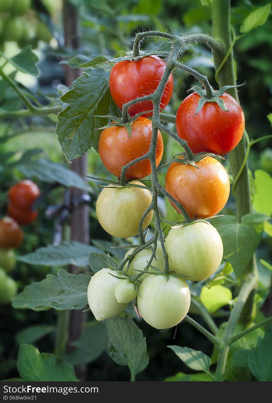
[[[260,169],[254,172],[255,195],[253,198],[253,207],[258,213],[272,214],[272,178],[270,174]]]

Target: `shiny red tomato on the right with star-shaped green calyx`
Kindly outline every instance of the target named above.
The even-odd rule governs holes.
[[[200,96],[194,92],[177,110],[176,127],[179,137],[188,142],[194,154],[202,151],[225,155],[239,143],[245,129],[245,116],[238,102],[224,92],[228,112],[216,102],[206,102],[196,113]]]

